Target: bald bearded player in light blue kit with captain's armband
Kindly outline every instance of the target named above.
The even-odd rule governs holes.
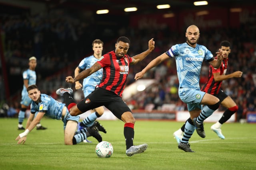
[[[152,60],[141,72],[135,75],[135,80],[164,60],[175,58],[179,80],[178,94],[182,102],[188,106],[190,119],[186,122],[184,135],[178,144],[178,148],[185,152],[194,152],[188,143],[196,129],[200,137],[205,137],[204,120],[220,106],[220,100],[215,96],[200,91],[199,79],[202,62],[205,60],[214,68],[219,68],[222,63],[222,51],[217,52],[214,59],[212,53],[203,45],[197,44],[199,29],[196,25],[190,25],[186,29],[186,43],[173,45],[168,51]],[[204,107],[202,107],[204,105]]]

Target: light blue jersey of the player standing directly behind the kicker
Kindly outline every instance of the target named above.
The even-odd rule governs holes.
[[[87,68],[90,68],[94,63],[96,63],[98,59],[94,57],[94,55],[91,55],[89,57],[84,58],[78,65],[78,68],[80,70],[86,70]],[[94,72],[90,76],[84,78],[83,80],[83,91],[84,91],[84,97],[88,96],[95,87],[100,83],[103,75],[103,69]]]

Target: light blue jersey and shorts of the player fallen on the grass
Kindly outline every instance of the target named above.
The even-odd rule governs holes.
[[[62,121],[64,122],[64,129],[65,129],[66,123],[68,120],[73,120],[78,123],[80,117],[71,116],[70,113],[68,112],[68,109],[66,111],[65,116],[62,117],[62,110],[64,107],[66,107],[65,104],[58,102],[51,96],[48,96],[47,94],[41,94],[40,102],[36,104],[36,102],[32,101],[30,109],[32,114],[35,114],[38,111],[38,112],[44,112],[47,117],[50,117],[52,119],[57,119],[57,120],[62,119]]]

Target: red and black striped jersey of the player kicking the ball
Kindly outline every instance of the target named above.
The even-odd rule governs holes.
[[[132,58],[128,55],[119,58],[116,57],[114,51],[111,51],[103,55],[97,62],[103,68],[103,77],[98,87],[114,92],[122,97]]]

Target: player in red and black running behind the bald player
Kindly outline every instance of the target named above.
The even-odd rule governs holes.
[[[210,65],[208,81],[206,82],[206,84],[204,84],[204,86],[202,86],[201,90],[203,92],[216,96],[220,100],[220,104],[227,108],[226,111],[224,111],[220,120],[211,126],[211,130],[214,131],[218,135],[218,137],[220,137],[221,139],[225,139],[224,135],[222,135],[220,127],[238,110],[238,106],[236,105],[234,100],[230,98],[230,96],[223,92],[223,90],[221,89],[221,84],[223,80],[227,80],[233,77],[241,77],[243,72],[236,71],[231,74],[226,74],[228,67],[228,55],[231,52],[230,42],[222,41],[220,43],[220,51],[222,51],[223,55],[222,64],[218,69],[213,68]],[[182,138],[185,124],[173,133],[173,136],[178,143],[180,143],[180,139]]]

